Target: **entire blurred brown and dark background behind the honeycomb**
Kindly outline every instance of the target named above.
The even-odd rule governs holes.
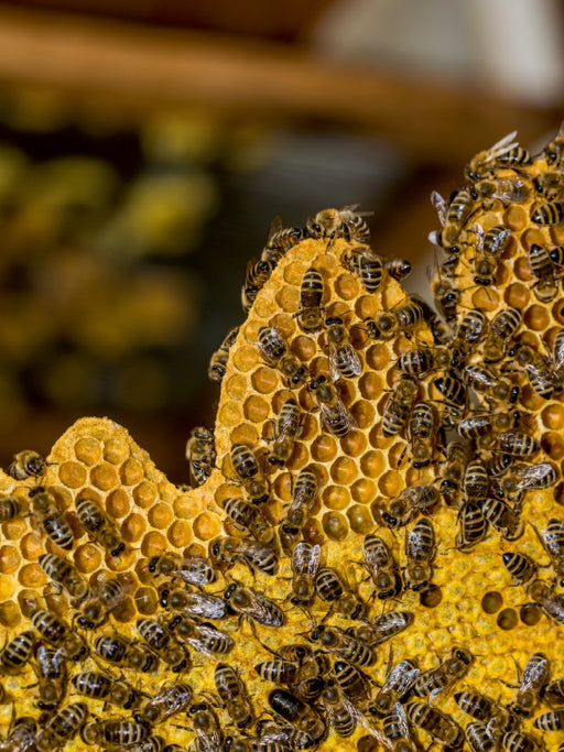
[[[429,197],[564,119],[562,0],[0,2],[0,466],[84,415],[175,482],[272,219],[373,211],[434,263]]]

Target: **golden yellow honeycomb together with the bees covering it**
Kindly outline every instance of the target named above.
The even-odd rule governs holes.
[[[107,418],[15,456],[0,750],[558,748],[564,137],[512,138],[433,195],[442,317],[355,207],[271,230],[192,488]]]

